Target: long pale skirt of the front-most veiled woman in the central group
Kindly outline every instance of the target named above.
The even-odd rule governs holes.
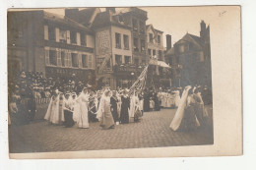
[[[110,128],[114,128],[114,119],[110,112],[110,106],[106,106],[105,111],[102,113],[102,117],[100,119],[100,127],[102,129],[107,130]]]

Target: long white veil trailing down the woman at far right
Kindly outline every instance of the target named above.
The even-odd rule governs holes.
[[[171,123],[170,123],[170,128],[173,130],[173,131],[177,131],[180,124],[181,124],[181,121],[183,119],[183,116],[184,116],[184,109],[185,109],[185,106],[186,106],[186,99],[187,99],[187,96],[188,96],[188,90],[191,88],[191,86],[186,86],[184,91],[182,92],[182,96],[181,96],[181,99],[180,99],[180,102],[179,102],[179,105],[178,105],[178,109],[174,115],[174,118],[172,119]]]

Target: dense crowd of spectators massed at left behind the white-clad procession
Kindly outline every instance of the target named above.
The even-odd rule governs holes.
[[[32,122],[36,112],[35,99],[50,98],[56,89],[63,92],[74,91],[77,94],[84,87],[83,82],[77,81],[73,74],[69,79],[45,78],[39,72],[21,72],[16,77],[9,77],[9,110],[13,124],[23,125]]]

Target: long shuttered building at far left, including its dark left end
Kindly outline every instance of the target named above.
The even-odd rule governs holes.
[[[8,13],[9,76],[26,71],[67,79],[75,74],[95,84],[95,58],[95,37],[89,28],[42,10]]]

